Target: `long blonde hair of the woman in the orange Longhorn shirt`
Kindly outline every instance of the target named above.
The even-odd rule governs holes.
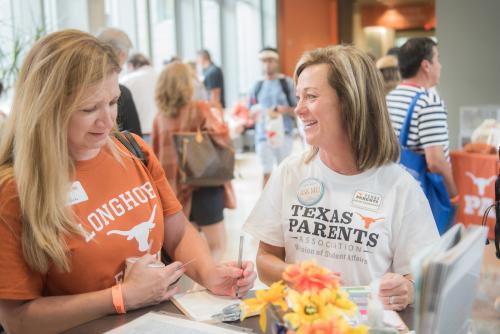
[[[39,40],[26,56],[0,143],[0,186],[15,181],[29,267],[69,271],[65,237],[81,234],[67,206],[74,163],[68,123],[85,90],[120,71],[110,46],[78,30]]]

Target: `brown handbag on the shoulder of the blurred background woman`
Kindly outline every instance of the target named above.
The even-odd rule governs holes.
[[[191,116],[191,115],[190,115]],[[234,150],[198,127],[173,134],[180,182],[192,186],[220,186],[233,179]]]

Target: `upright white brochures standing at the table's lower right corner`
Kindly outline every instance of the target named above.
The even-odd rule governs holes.
[[[487,232],[456,224],[412,260],[417,333],[467,333]]]

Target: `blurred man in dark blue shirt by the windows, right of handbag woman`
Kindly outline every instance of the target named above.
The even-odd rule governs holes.
[[[198,51],[197,61],[203,68],[203,84],[208,91],[209,101],[215,106],[225,108],[222,70],[212,62],[210,53],[207,50]]]

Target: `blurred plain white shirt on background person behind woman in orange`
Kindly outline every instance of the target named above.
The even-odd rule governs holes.
[[[156,71],[149,65],[142,66],[120,79],[120,83],[130,89],[130,93],[132,93],[144,134],[151,133],[153,120],[156,116],[156,80]]]

